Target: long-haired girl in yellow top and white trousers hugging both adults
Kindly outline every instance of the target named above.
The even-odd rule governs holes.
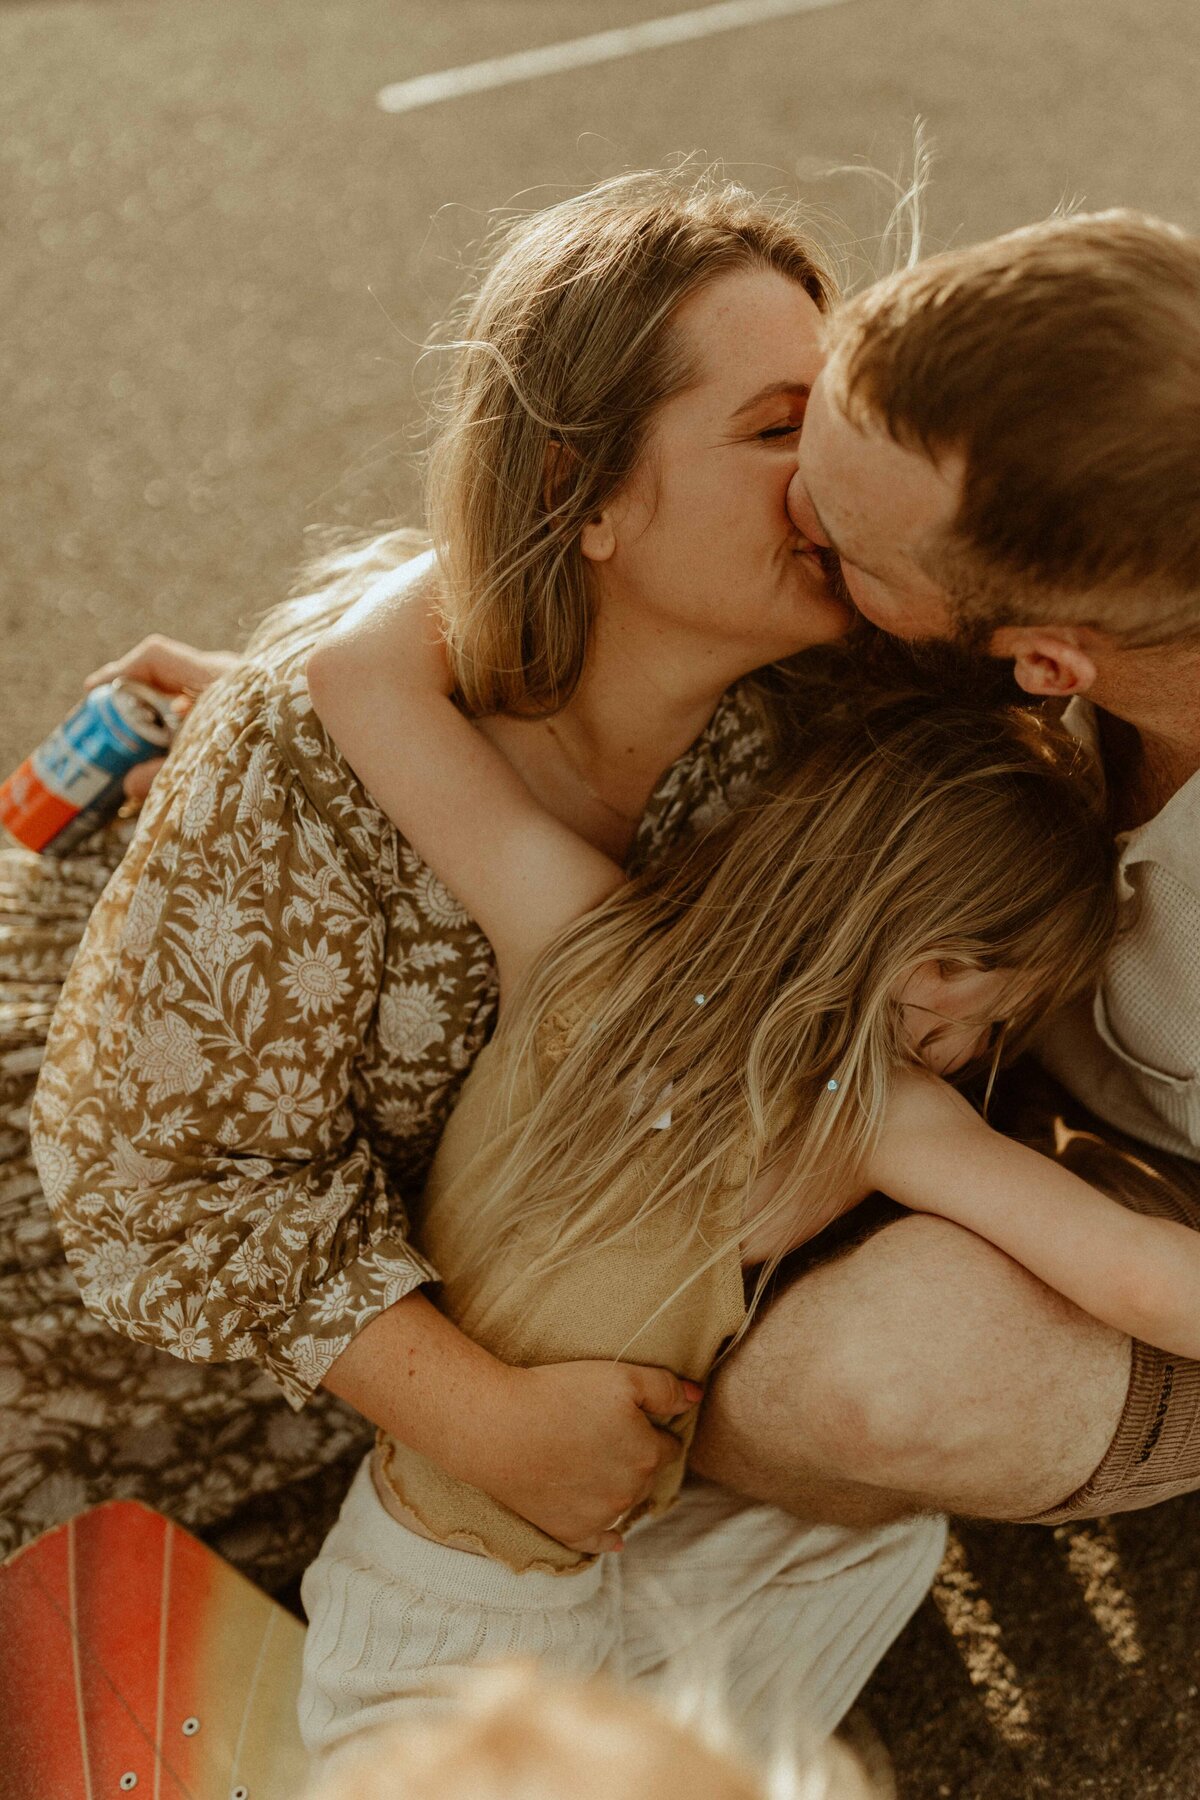
[[[849,693],[797,731],[770,794],[621,886],[452,704],[421,605],[360,603],[309,686],[497,952],[500,1031],[421,1215],[468,1336],[511,1363],[635,1355],[700,1382],[779,1258],[880,1186],[1119,1328],[1200,1348],[1195,1237],[999,1138],[936,1078],[1016,1048],[1103,956],[1112,846],[1060,733]],[[426,1705],[432,1669],[536,1645],[653,1687],[714,1636],[752,1742],[779,1683],[829,1728],[846,1694],[811,1616],[797,1642],[795,1521],[703,1483],[680,1498],[693,1424],[671,1424],[649,1519],[604,1566],[630,1521],[561,1544],[381,1440],[306,1577],[309,1744]]]

